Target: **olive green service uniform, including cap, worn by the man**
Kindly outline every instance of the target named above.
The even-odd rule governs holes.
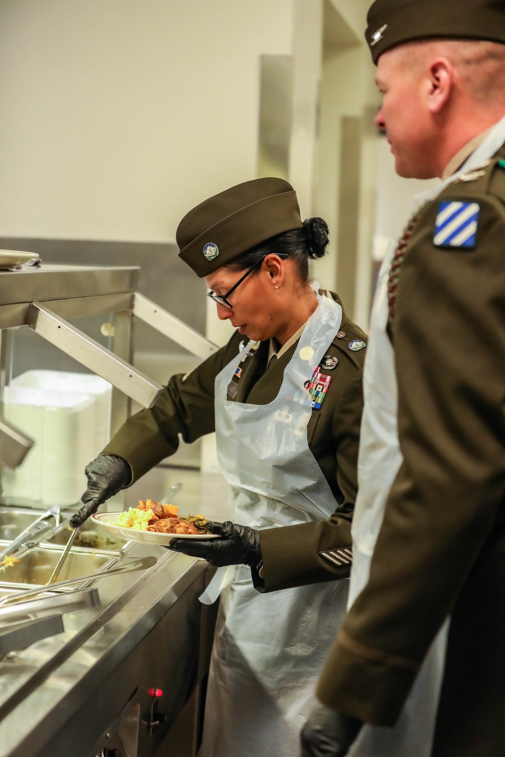
[[[505,43],[503,2],[378,0],[369,21],[376,60],[419,37]],[[389,276],[385,268],[389,319],[376,328],[394,347],[399,467],[385,492],[369,575],[354,592],[317,691],[338,712],[379,726],[360,734],[364,741],[350,752],[360,757],[505,755],[503,142],[505,119],[486,136],[479,161],[478,150],[422,207]],[[480,160],[486,145],[485,157],[493,157]],[[360,475],[360,494],[362,483]],[[359,495],[355,556],[360,537],[365,544],[367,506]],[[355,558],[351,593],[356,565]],[[422,685],[438,670],[438,688],[428,687],[432,696],[423,699]],[[402,752],[398,744],[426,709],[432,725]]]

